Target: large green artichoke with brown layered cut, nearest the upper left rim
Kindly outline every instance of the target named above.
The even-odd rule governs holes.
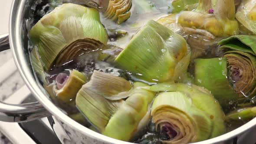
[[[68,3],[43,16],[30,30],[43,69],[98,52],[107,44],[107,32],[93,8]]]

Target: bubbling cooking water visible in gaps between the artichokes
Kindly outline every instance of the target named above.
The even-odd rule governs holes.
[[[61,5],[62,3],[68,2],[78,2],[81,4],[81,0],[36,0],[35,4],[30,10],[30,18],[26,21],[27,31],[45,14],[51,12],[54,7]],[[91,1],[89,1],[91,2]],[[144,3],[145,2],[145,3]],[[83,3],[85,4],[85,3]],[[106,20],[103,16],[101,17],[101,21],[108,32],[108,57],[104,59],[105,62],[98,62],[93,59],[90,59],[88,56],[79,56],[76,59],[73,59],[71,62],[66,63],[65,65],[54,67],[49,71],[50,75],[58,74],[59,72],[64,71],[65,69],[77,69],[86,75],[91,75],[93,70],[99,70],[102,72],[111,73],[113,75],[121,76],[127,80],[138,81],[131,76],[129,72],[126,72],[121,69],[114,68],[111,64],[108,63],[109,60],[115,58],[121,49],[124,49],[127,46],[129,40],[134,36],[134,34],[144,25],[144,23],[148,22],[148,20],[157,20],[162,16],[167,16],[168,13],[171,12],[171,0],[133,0],[132,1],[132,15],[131,17],[121,25],[118,25],[110,20]],[[95,3],[90,3],[89,5],[93,7],[100,7],[95,5]],[[196,39],[196,38],[195,38]],[[217,47],[217,42],[213,42],[212,46],[208,46],[205,54],[200,58],[213,58],[221,56],[221,52],[219,52]],[[29,49],[33,48],[30,44]],[[193,72],[193,62],[190,63],[190,67],[188,69],[189,72]],[[193,79],[193,75],[192,75]],[[152,83],[149,83],[152,84]],[[72,105],[62,104],[59,101],[55,101],[60,108],[65,110],[69,115],[75,114],[79,111],[75,108],[75,103]],[[230,108],[224,109],[224,111],[231,111],[237,108],[236,102],[230,102]],[[227,128],[229,131],[243,125],[247,121],[241,120],[236,124],[227,124]],[[89,126],[89,125],[86,125]],[[159,135],[156,133],[154,128],[154,124],[149,124],[147,128],[141,131],[141,134],[135,137],[134,142],[141,144],[161,144],[158,139],[164,139],[163,135]],[[143,137],[141,138],[141,136]]]

